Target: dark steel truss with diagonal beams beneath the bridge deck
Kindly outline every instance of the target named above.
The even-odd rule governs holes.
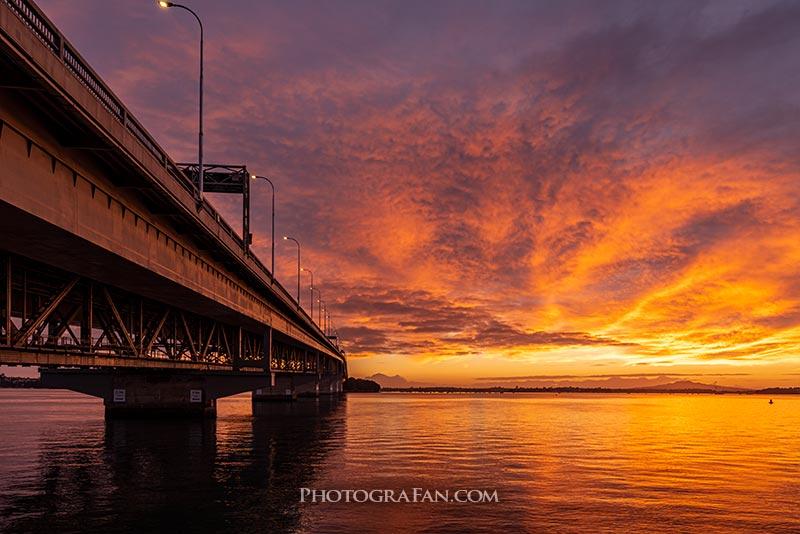
[[[20,256],[2,255],[0,265],[0,350],[336,370],[316,352],[273,339],[269,327],[254,332]]]

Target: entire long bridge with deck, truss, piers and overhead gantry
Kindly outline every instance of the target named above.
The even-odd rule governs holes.
[[[246,167],[204,170],[241,236],[32,1],[0,0],[0,364],[107,414],[339,393],[338,340],[249,250]]]

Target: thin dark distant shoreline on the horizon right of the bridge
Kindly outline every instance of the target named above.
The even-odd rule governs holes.
[[[659,388],[459,388],[459,387],[410,387],[410,388],[381,388],[386,393],[698,393],[714,395],[800,395],[800,387],[790,388],[764,388],[764,389],[659,389]]]

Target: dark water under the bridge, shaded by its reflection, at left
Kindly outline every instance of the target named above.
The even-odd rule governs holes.
[[[220,403],[218,421],[109,420],[63,391],[0,392],[2,532],[287,532],[340,448],[340,403]]]

